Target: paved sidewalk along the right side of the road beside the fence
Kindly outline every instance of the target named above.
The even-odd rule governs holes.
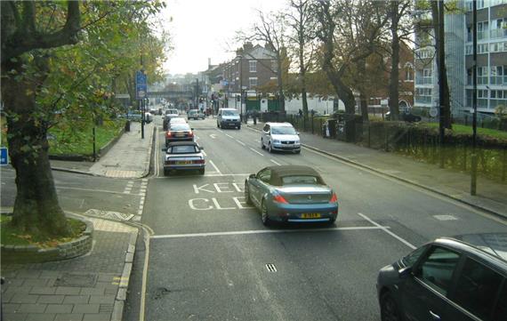
[[[263,123],[254,125],[249,122],[248,127],[261,131],[263,125]],[[468,173],[440,169],[438,165],[417,162],[406,156],[398,156],[340,140],[324,139],[307,132],[301,132],[300,136],[303,147],[318,150],[347,163],[388,175],[399,181],[431,190],[466,205],[507,218],[507,185],[479,177],[477,196],[472,197],[470,195],[471,177]]]

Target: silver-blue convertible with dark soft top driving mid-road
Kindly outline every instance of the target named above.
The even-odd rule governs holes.
[[[245,180],[245,201],[261,210],[262,223],[323,221],[333,224],[338,199],[312,168],[269,166]]]

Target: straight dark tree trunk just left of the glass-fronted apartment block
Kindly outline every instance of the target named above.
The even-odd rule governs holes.
[[[398,0],[390,3],[390,33],[392,43],[390,44],[391,60],[390,60],[390,82],[389,82],[389,109],[390,119],[398,120],[399,115],[399,37],[398,37]]]

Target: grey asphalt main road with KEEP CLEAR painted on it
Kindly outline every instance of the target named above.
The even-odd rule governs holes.
[[[161,127],[157,117],[156,124]],[[205,147],[206,173],[163,176],[156,153],[127,299],[139,320],[146,267],[145,320],[380,320],[378,269],[435,237],[503,232],[505,223],[445,197],[303,148],[269,154],[243,126],[220,130],[190,121]],[[157,151],[164,132],[157,132]],[[338,221],[265,228],[245,205],[245,177],[268,165],[310,165],[336,191]]]

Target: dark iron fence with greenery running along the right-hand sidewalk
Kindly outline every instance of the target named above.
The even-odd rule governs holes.
[[[382,149],[463,173],[471,171],[471,134],[446,132],[444,144],[440,144],[439,130],[421,124],[362,122],[358,116],[348,118],[344,114],[329,119],[273,112],[263,113],[261,119],[263,122],[289,122],[299,132]],[[479,136],[477,154],[479,174],[495,181],[507,180],[507,140]]]

